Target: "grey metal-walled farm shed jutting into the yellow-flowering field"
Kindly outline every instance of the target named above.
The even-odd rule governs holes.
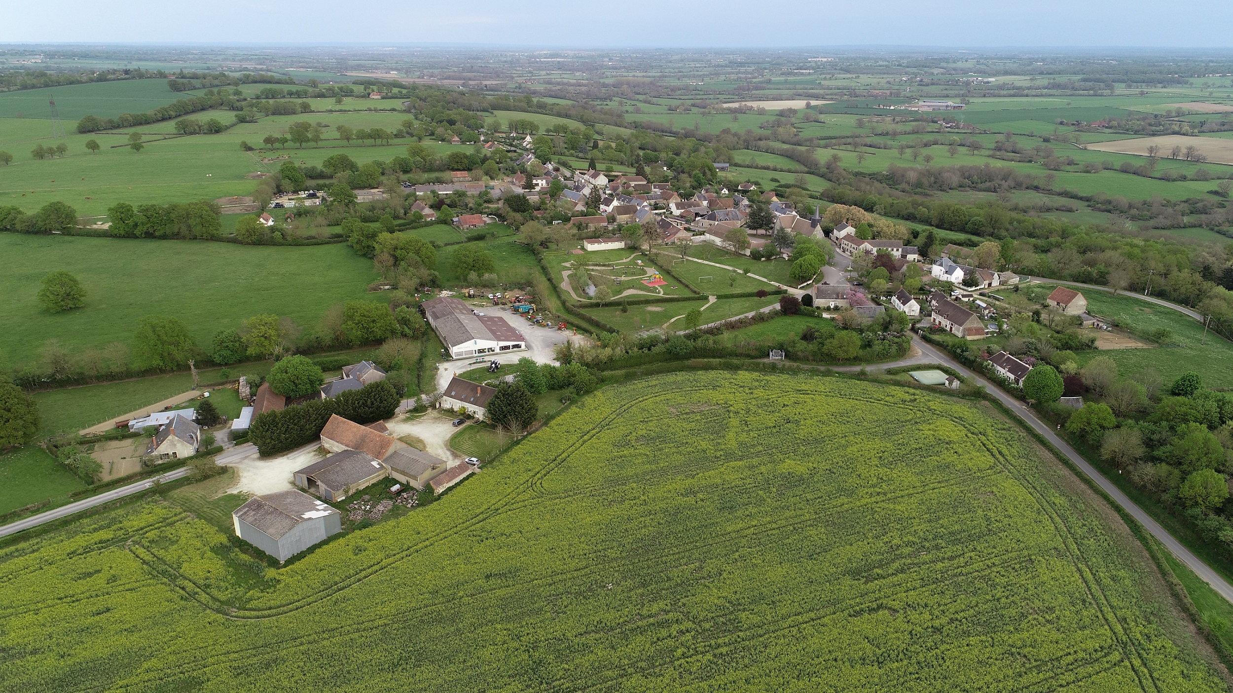
[[[342,513],[300,491],[250,498],[232,513],[236,535],[280,562],[343,529]]]

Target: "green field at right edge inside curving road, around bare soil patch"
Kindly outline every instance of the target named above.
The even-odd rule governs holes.
[[[1053,285],[1041,285],[1041,289],[1047,292]],[[1120,323],[1124,321],[1144,333],[1168,328],[1178,337],[1180,346],[1079,351],[1080,365],[1096,356],[1108,356],[1117,363],[1122,375],[1155,369],[1169,383],[1186,371],[1195,371],[1203,376],[1208,387],[1233,387],[1233,343],[1211,330],[1205,339],[1203,326],[1198,321],[1123,293],[1113,296],[1105,291],[1084,291],[1083,295],[1088,298],[1088,312],[1094,316]]]

